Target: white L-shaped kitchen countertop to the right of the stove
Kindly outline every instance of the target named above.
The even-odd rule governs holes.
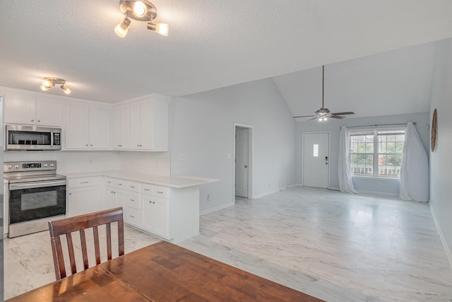
[[[64,173],[67,178],[85,178],[91,176],[107,176],[109,178],[120,178],[123,180],[132,180],[136,182],[145,182],[151,185],[162,185],[165,187],[194,187],[206,185],[210,182],[217,182],[214,178],[198,178],[193,176],[163,176],[145,173],[135,173],[132,171],[113,170],[113,171],[95,171],[82,173]]]

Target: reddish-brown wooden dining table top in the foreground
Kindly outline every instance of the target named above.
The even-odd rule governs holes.
[[[323,301],[161,241],[7,301]]]

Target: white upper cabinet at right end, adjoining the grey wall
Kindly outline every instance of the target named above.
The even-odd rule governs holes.
[[[168,103],[165,97],[115,106],[113,148],[134,151],[168,151]]]

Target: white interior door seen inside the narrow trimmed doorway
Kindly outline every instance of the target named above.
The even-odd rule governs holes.
[[[248,198],[248,128],[235,129],[235,196]]]

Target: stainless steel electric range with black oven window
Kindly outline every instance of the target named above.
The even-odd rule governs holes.
[[[8,237],[48,229],[47,221],[66,216],[66,176],[57,161],[4,163],[8,180]]]

